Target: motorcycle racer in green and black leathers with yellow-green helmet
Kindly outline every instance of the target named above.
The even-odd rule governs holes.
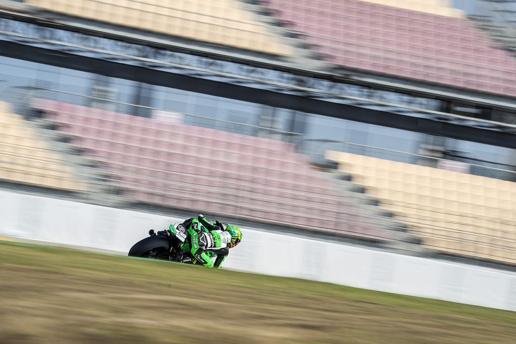
[[[183,263],[204,265],[208,268],[221,268],[222,261],[242,240],[240,228],[227,223],[209,222],[202,214],[197,219],[189,218],[183,223],[172,223],[169,227],[180,240],[183,252],[191,256],[179,256]],[[188,233],[184,233],[184,231]],[[213,261],[212,257],[215,257]]]

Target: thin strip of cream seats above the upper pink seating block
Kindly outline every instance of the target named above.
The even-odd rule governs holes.
[[[462,11],[453,8],[448,0],[362,0],[366,3],[399,7],[402,9],[444,15],[445,17],[462,17]]]

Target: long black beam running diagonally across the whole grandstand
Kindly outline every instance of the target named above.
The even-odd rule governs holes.
[[[151,85],[516,149],[516,135],[507,132],[326,102],[299,95],[227,84],[222,81],[206,80],[6,41],[0,41],[0,55]]]

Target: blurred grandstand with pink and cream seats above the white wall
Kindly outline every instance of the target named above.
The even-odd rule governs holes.
[[[0,187],[514,270],[515,13],[0,0]]]

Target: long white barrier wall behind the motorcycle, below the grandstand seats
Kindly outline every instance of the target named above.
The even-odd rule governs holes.
[[[195,214],[192,214],[195,216]],[[181,219],[0,191],[0,235],[127,252]],[[516,275],[345,244],[243,230],[224,267],[516,310]]]

